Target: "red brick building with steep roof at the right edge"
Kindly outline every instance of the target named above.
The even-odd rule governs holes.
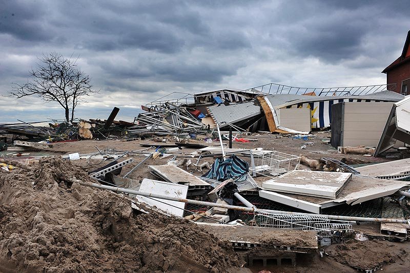
[[[407,32],[400,57],[386,67],[382,73],[387,74],[387,84],[396,83],[396,86],[387,89],[403,95],[410,95],[410,30]]]

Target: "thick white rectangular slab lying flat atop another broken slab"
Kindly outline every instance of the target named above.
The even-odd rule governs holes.
[[[335,199],[351,173],[295,170],[263,182],[264,190]]]

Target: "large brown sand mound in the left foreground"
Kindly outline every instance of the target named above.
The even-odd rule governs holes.
[[[0,271],[224,272],[241,264],[229,243],[199,226],[139,213],[70,162],[48,158],[32,171],[0,170]]]

